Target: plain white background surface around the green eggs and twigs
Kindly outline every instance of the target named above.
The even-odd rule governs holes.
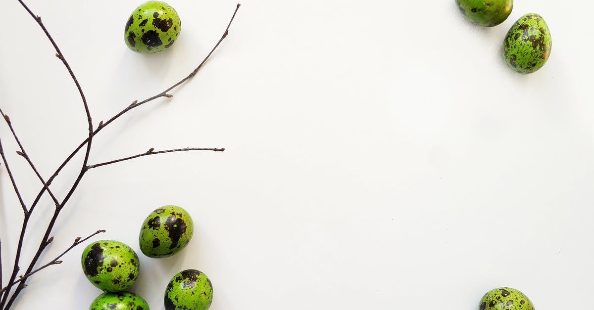
[[[178,42],[140,55],[123,34],[140,2],[27,1],[80,80],[94,125],[185,77],[236,5],[170,0]],[[212,310],[476,309],[500,286],[539,309],[583,308],[594,289],[594,4],[578,2],[518,0],[503,24],[482,29],[453,0],[245,1],[200,73],[104,129],[90,162],[150,147],[227,150],[90,170],[41,261],[106,229],[94,240],[140,254],[130,290],[153,310],[187,268],[213,281]],[[48,178],[85,138],[84,110],[34,20],[15,0],[2,8],[0,107]],[[547,21],[552,53],[519,75],[501,45],[528,12]],[[4,123],[0,137],[30,204],[40,183]],[[81,160],[52,185],[59,197]],[[22,212],[4,165],[0,191],[6,274]],[[194,238],[153,260],[138,232],[166,204],[191,213]],[[46,197],[24,261],[51,214]],[[87,309],[100,293],[80,266],[88,243],[31,278],[15,309]]]

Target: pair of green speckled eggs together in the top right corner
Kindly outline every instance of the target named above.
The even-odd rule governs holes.
[[[513,0],[456,0],[462,14],[474,24],[493,27],[511,14]],[[530,13],[520,17],[505,36],[503,58],[520,74],[536,72],[551,54],[551,31],[541,15]]]

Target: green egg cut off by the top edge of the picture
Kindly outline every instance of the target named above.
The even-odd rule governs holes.
[[[503,23],[514,6],[513,0],[456,0],[462,14],[474,24],[493,27]]]

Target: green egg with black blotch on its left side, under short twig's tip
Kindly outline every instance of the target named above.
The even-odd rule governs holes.
[[[106,292],[125,290],[138,277],[138,256],[119,241],[102,240],[91,243],[81,259],[84,274],[94,286]]]

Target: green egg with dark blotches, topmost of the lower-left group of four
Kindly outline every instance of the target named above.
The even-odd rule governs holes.
[[[140,250],[151,258],[170,257],[188,245],[194,222],[177,205],[165,205],[147,216],[140,228]]]

